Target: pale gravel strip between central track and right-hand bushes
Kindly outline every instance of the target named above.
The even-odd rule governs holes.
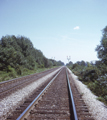
[[[92,114],[92,117],[95,120],[107,120],[107,106],[98,101],[97,96],[95,96],[86,85],[79,81],[78,77],[75,76],[70,69],[68,70],[74,79],[78,91],[82,94],[82,98],[89,108],[89,112]]]

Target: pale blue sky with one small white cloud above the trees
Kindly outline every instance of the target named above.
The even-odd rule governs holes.
[[[107,0],[0,0],[0,38],[28,37],[47,58],[97,60]]]

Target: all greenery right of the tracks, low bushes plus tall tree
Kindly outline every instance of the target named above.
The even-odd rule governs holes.
[[[102,30],[100,45],[95,49],[98,61],[68,63],[67,65],[79,80],[85,83],[98,99],[107,104],[107,26]]]

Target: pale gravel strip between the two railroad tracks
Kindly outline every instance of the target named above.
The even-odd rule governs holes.
[[[61,68],[59,68],[61,69]],[[46,82],[51,76],[53,76],[59,69],[54,72],[38,79],[37,81],[27,85],[26,87],[17,90],[10,96],[5,97],[0,101],[0,120],[5,120],[6,117],[15,110],[15,108],[22,103],[30,94],[41,84]]]

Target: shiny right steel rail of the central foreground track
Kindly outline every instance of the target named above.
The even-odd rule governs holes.
[[[72,109],[73,109],[73,117],[74,117],[73,120],[78,120],[77,113],[76,113],[76,108],[75,108],[75,103],[74,103],[74,99],[73,99],[73,94],[72,94],[72,91],[71,91],[71,85],[70,85],[69,77],[68,77],[68,73],[67,73],[67,69],[66,69],[66,76],[67,76],[67,83],[68,83],[69,93],[70,93],[70,101],[71,101]]]

